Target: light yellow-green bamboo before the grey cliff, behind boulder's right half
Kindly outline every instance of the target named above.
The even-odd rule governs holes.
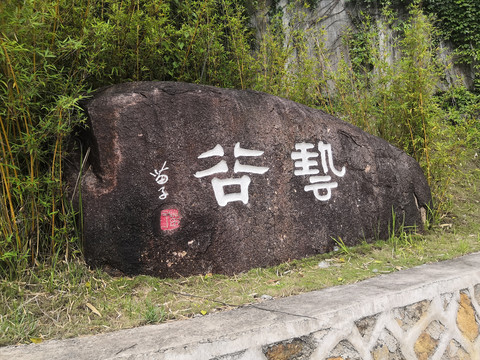
[[[446,164],[456,153],[454,132],[443,123],[435,97],[444,68],[430,17],[418,6],[405,20],[388,7],[380,21],[363,14],[357,31],[345,33],[347,52],[334,68],[325,32],[306,23],[307,8],[298,1],[284,9],[286,17],[280,12],[271,18],[251,66],[253,87],[321,107],[386,139],[419,161],[429,183],[443,189],[452,175]],[[388,53],[387,41],[398,44],[396,54]],[[444,200],[438,200],[440,206]]]

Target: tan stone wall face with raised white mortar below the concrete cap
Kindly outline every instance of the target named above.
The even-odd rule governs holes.
[[[262,351],[268,360],[479,359],[479,300],[477,284],[352,318],[341,329],[268,344]]]

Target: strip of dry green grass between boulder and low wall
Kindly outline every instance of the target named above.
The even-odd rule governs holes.
[[[245,304],[361,281],[480,250],[480,159],[465,155],[464,174],[451,181],[451,211],[424,235],[339,247],[235,276],[178,279],[111,277],[81,261],[37,266],[16,281],[0,281],[0,345],[97,334],[181,320]],[[339,240],[340,242],[340,240]]]

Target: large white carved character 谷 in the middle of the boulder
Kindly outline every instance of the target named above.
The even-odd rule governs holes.
[[[217,144],[217,146],[215,146],[213,149],[200,154],[198,158],[204,159],[213,156],[222,157],[223,155],[224,151],[222,146]],[[235,156],[235,158],[261,156],[263,155],[263,151],[243,149],[240,147],[240,143],[236,143],[233,150],[233,155]],[[264,174],[267,171],[268,167],[244,165],[241,164],[239,160],[235,161],[235,165],[233,167],[234,173]],[[218,164],[212,166],[209,169],[197,171],[194,176],[197,178],[202,178],[205,176],[226,172],[228,172],[227,162],[225,160],[221,160]],[[217,177],[214,177],[212,179],[212,187],[218,205],[225,206],[228,203],[234,201],[241,201],[243,204],[248,204],[248,186],[250,185],[250,182],[251,180],[248,175],[243,175],[240,178],[226,179],[219,179]],[[240,192],[226,194],[225,187],[227,186],[240,186]]]

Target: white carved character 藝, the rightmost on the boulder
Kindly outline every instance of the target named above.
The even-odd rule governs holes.
[[[311,159],[318,157],[319,154],[317,152],[308,151],[312,148],[314,148],[314,145],[310,143],[303,142],[295,144],[295,149],[299,151],[294,151],[291,154],[292,160],[296,160],[295,167],[297,169],[294,170],[294,174],[297,176],[315,175],[310,176],[308,179],[310,185],[305,185],[304,190],[312,191],[315,198],[320,201],[327,201],[332,197],[332,189],[338,186],[338,183],[336,181],[331,181],[332,177],[327,175],[329,167],[334,175],[343,177],[346,171],[345,166],[342,167],[341,170],[337,170],[333,165],[332,146],[330,144],[324,144],[323,141],[320,141],[318,143],[318,150],[320,152],[322,170],[325,175],[317,176],[320,171],[312,167],[318,166],[318,162]]]

